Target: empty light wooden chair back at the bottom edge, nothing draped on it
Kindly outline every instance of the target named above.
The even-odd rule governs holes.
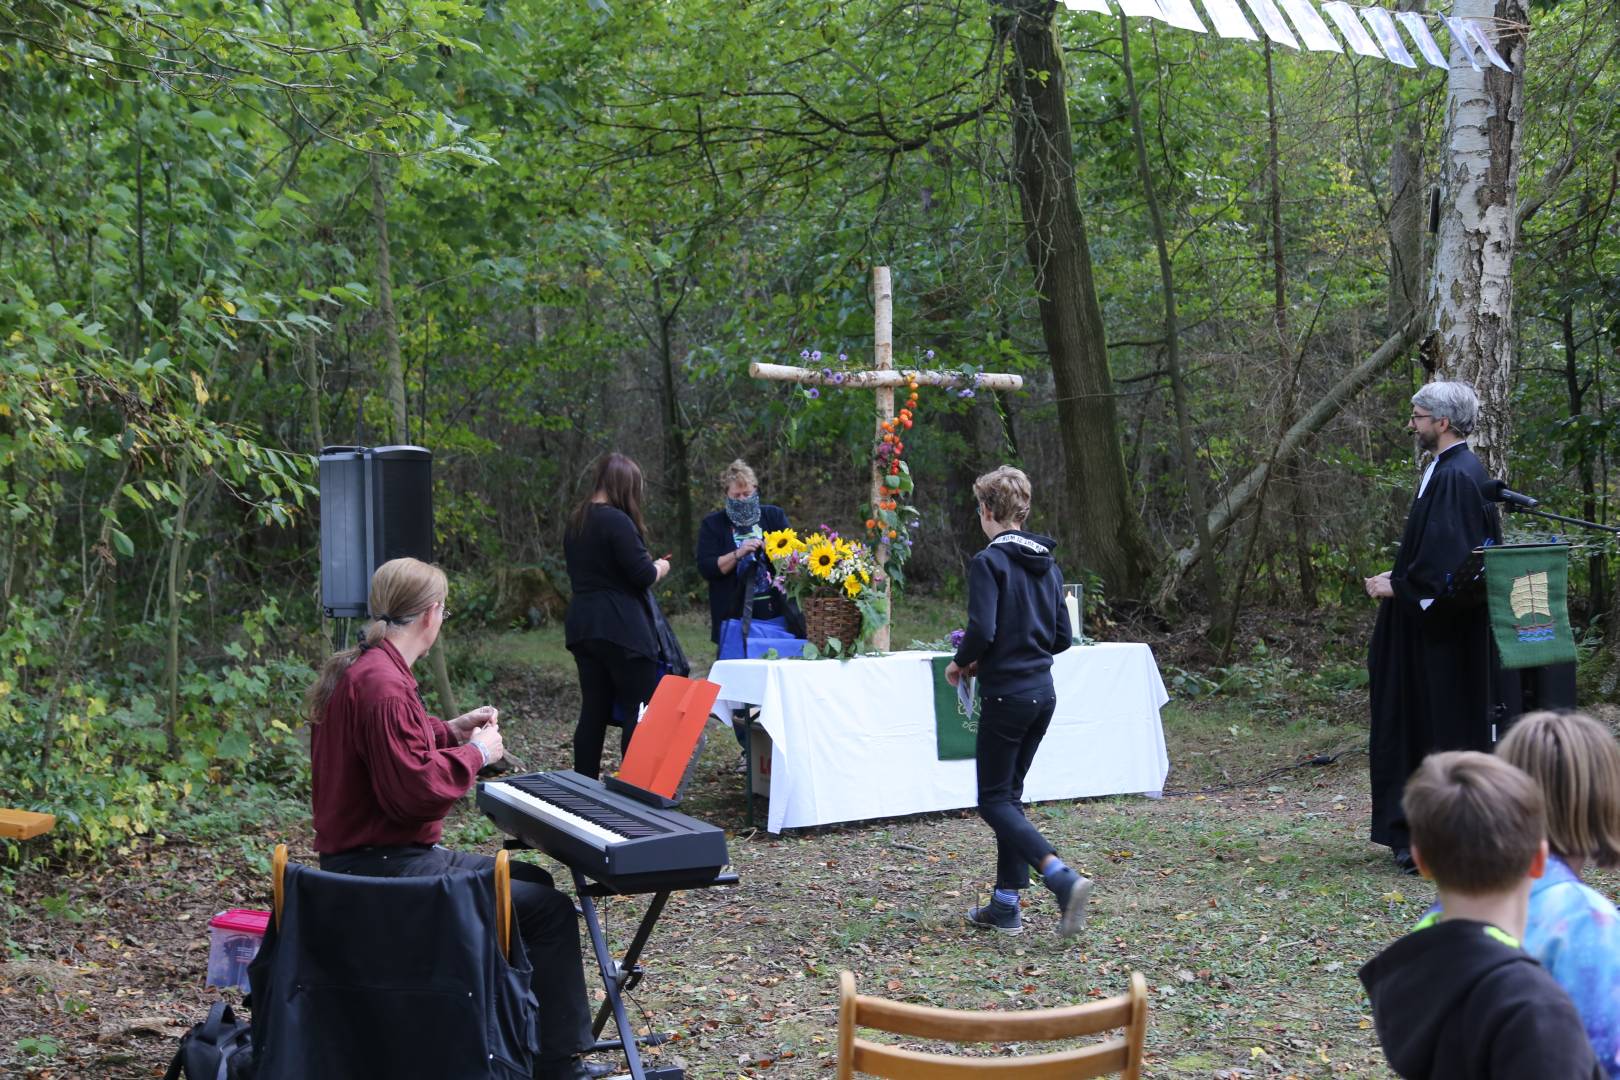
[[[948,1057],[872,1043],[859,1038],[855,1028],[948,1043],[1027,1043],[1123,1030],[1102,1043],[1053,1054]],[[854,975],[838,976],[838,1080],[855,1074],[891,1080],[1084,1080],[1115,1072],[1137,1080],[1145,1036],[1147,980],[1139,972],[1131,973],[1131,989],[1118,997],[1029,1012],[969,1012],[867,997],[855,993]]]

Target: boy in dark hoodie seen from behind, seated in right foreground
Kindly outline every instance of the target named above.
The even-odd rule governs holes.
[[[1520,947],[1547,863],[1541,789],[1477,751],[1429,755],[1403,798],[1443,915],[1361,968],[1383,1056],[1406,1080],[1599,1080],[1563,988]]]

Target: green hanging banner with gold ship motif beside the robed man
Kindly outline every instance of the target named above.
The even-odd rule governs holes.
[[[1575,659],[1570,633],[1570,547],[1486,547],[1490,633],[1502,667],[1541,667]]]

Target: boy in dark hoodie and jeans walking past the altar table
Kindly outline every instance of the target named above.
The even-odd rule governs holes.
[[[978,816],[996,834],[996,884],[990,904],[967,912],[967,921],[1022,933],[1019,891],[1035,866],[1058,899],[1058,933],[1069,936],[1085,920],[1092,882],[1058,858],[1022,805],[1024,776],[1058,704],[1051,654],[1069,648],[1063,573],[1051,559],[1051,538],[1022,529],[1029,517],[1022,471],[1003,465],[985,473],[974,481],[974,497],[990,546],[967,570],[967,631],[944,677],[954,687],[962,675],[978,675]]]

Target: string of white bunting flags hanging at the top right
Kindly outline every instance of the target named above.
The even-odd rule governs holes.
[[[1113,0],[1119,11],[1129,18],[1158,19],[1166,26],[1207,34],[1204,19],[1194,0]],[[1443,26],[1452,37],[1450,58],[1430,31],[1429,18],[1418,11],[1387,11],[1377,6],[1353,5],[1348,0],[1322,0],[1322,11],[1317,11],[1314,0],[1199,0],[1204,16],[1215,28],[1218,37],[1239,40],[1259,40],[1249,16],[1260,26],[1273,44],[1288,49],[1307,49],[1311,52],[1349,52],[1361,57],[1388,60],[1403,68],[1418,70],[1406,42],[1406,37],[1418,49],[1418,55],[1432,68],[1448,70],[1452,63],[1468,63],[1474,71],[1481,71],[1481,63],[1489,63],[1502,71],[1513,73],[1513,66],[1502,58],[1490,40],[1490,28],[1479,19],[1460,19],[1450,15],[1432,16],[1437,26]],[[1108,0],[1063,0],[1071,11],[1092,11],[1097,15],[1113,15]],[[1280,5],[1280,6],[1278,6]],[[1247,8],[1249,15],[1244,15]],[[1333,36],[1333,28],[1340,37]]]

